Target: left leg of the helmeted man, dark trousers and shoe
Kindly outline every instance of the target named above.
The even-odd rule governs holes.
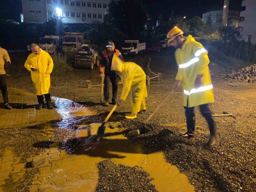
[[[184,134],[180,134],[184,138],[193,139],[194,138],[194,132],[195,132],[195,125],[196,125],[196,119],[195,119],[195,107],[184,107],[185,109],[185,116],[187,120],[187,132]]]

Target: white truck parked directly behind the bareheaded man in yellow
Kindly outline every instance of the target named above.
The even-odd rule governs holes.
[[[60,37],[55,35],[45,35],[39,38],[39,46],[48,53],[56,53],[60,47]]]

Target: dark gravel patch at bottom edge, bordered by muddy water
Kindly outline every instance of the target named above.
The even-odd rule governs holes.
[[[99,162],[98,168],[99,182],[96,192],[157,192],[150,183],[153,179],[138,166],[116,165],[107,159]]]

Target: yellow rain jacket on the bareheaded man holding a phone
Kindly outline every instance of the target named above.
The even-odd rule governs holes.
[[[41,49],[39,55],[31,53],[27,57],[24,67],[31,72],[35,94],[48,94],[50,89],[50,74],[53,69],[52,57]],[[32,71],[31,68],[35,68],[37,71]]]

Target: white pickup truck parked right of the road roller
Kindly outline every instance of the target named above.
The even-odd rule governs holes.
[[[143,54],[146,50],[146,43],[140,43],[139,40],[125,40],[121,48],[124,55]]]

